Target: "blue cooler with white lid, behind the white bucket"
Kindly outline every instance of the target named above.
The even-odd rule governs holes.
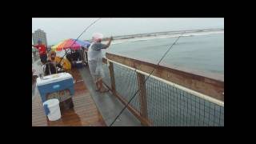
[[[54,93],[59,90],[70,90],[74,95],[73,77],[69,73],[51,74],[46,77],[37,78],[37,86],[42,102],[46,102],[46,94]]]

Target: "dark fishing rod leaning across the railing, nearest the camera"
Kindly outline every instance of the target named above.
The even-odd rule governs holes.
[[[182,35],[185,34],[185,33],[186,33],[186,31],[184,31],[182,34],[180,34],[180,35],[178,36],[178,38],[175,40],[175,42],[170,46],[170,48],[169,48],[168,50],[166,50],[166,53],[162,55],[162,58],[159,60],[157,66],[160,64],[160,62],[162,62],[162,59],[166,57],[166,54],[168,54],[168,52],[169,52],[170,49],[176,44],[176,42],[178,42],[178,39],[181,38]],[[137,69],[135,69],[134,71],[136,71],[136,70],[137,70]],[[155,68],[154,68],[154,70],[155,70]],[[150,78],[150,76],[151,76],[151,74],[153,74],[154,70],[152,70],[152,71],[150,72],[150,74],[147,76],[146,80],[143,81],[143,84],[145,84],[146,81]],[[115,121],[119,118],[119,116],[122,114],[122,112],[123,112],[124,110],[126,110],[127,106],[128,106],[128,105],[130,104],[130,102],[135,98],[135,96],[136,96],[136,94],[138,94],[138,91],[139,91],[139,90],[140,90],[140,89],[138,89],[138,90],[135,92],[135,94],[133,95],[133,97],[130,98],[130,100],[126,103],[126,106],[124,106],[124,107],[122,108],[122,110],[119,112],[118,116],[117,116],[116,118],[114,118],[114,121],[113,121],[113,122],[111,122],[110,126],[112,126],[112,125],[114,124],[114,122],[115,122]]]

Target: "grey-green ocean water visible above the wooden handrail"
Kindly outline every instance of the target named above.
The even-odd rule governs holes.
[[[157,64],[176,39],[154,38],[122,42],[111,45],[105,52]],[[223,78],[224,33],[181,37],[160,65]]]

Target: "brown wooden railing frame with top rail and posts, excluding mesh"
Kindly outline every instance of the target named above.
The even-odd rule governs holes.
[[[114,78],[114,64],[124,66],[130,70],[135,70],[137,74],[137,83],[139,99],[139,110],[135,109],[130,104],[127,109],[142,123],[143,126],[152,126],[153,122],[148,118],[148,104],[145,85],[145,76],[148,76],[152,70],[154,73],[150,76],[159,81],[178,87],[180,90],[185,90],[190,94],[194,94],[199,98],[213,102],[218,106],[224,107],[224,80],[207,78],[206,76],[191,74],[186,71],[170,68],[166,66],[157,66],[149,62],[143,62],[133,58],[126,58],[116,54],[106,53],[106,58],[102,59],[103,63],[108,64],[110,74],[110,85],[107,86],[112,94],[116,96],[124,105],[127,100],[116,90],[116,82]]]

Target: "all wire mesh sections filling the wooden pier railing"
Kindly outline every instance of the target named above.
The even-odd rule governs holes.
[[[111,86],[109,69],[103,67],[106,74],[103,80]],[[137,73],[114,63],[114,78],[117,93],[129,101],[138,90]],[[146,103],[148,119],[153,126],[224,126],[224,106],[155,78],[146,81]],[[130,106],[140,111],[138,94]]]

